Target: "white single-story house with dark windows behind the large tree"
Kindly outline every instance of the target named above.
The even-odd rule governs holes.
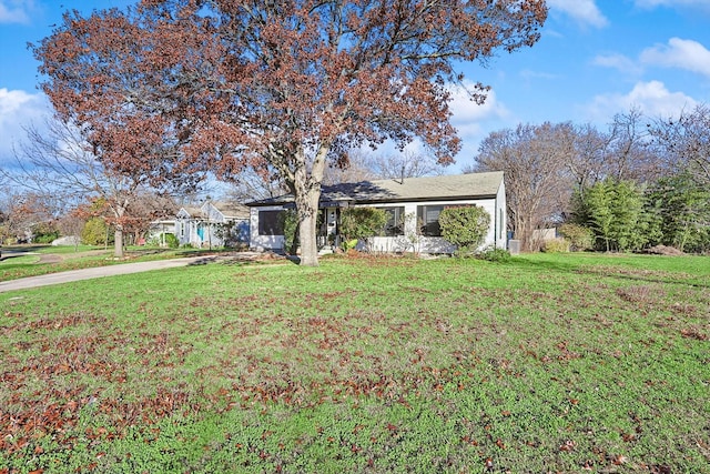
[[[318,222],[318,246],[339,242],[338,218],[348,206],[375,206],[388,213],[381,235],[368,239],[369,250],[381,252],[452,253],[454,245],[440,235],[438,215],[452,205],[476,204],[490,215],[490,226],[481,246],[506,248],[507,209],[503,172],[458,174],[403,180],[364,181],[323,186]],[[286,194],[247,203],[251,208],[253,249],[284,246],[280,213],[293,209]],[[361,248],[364,243],[361,242]]]

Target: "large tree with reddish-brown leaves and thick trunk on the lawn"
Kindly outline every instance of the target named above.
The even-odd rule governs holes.
[[[414,139],[452,162],[457,65],[532,46],[546,16],[544,0],[143,0],[65,17],[36,54],[54,105],[88,105],[77,119],[114,130],[112,144],[141,137],[113,127],[138,117],[190,165],[230,178],[270,163],[295,198],[302,263],[316,265],[328,162],[346,164],[353,145]]]

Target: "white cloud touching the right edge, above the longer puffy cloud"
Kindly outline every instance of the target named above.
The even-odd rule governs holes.
[[[698,41],[671,38],[668,44],[657,44],[641,52],[645,64],[680,68],[710,78],[710,51]]]

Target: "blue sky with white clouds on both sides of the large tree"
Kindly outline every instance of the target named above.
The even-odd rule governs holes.
[[[0,164],[22,125],[48,111],[28,42],[51,33],[67,9],[90,12],[130,1],[0,0]],[[710,0],[548,0],[540,41],[487,64],[465,64],[470,81],[491,85],[484,105],[456,93],[453,122],[471,162],[491,131],[518,123],[572,121],[606,129],[630,108],[677,115],[710,102]]]

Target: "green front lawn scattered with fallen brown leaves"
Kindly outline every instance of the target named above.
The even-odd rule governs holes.
[[[710,260],[215,263],[0,293],[0,473],[709,473]]]

